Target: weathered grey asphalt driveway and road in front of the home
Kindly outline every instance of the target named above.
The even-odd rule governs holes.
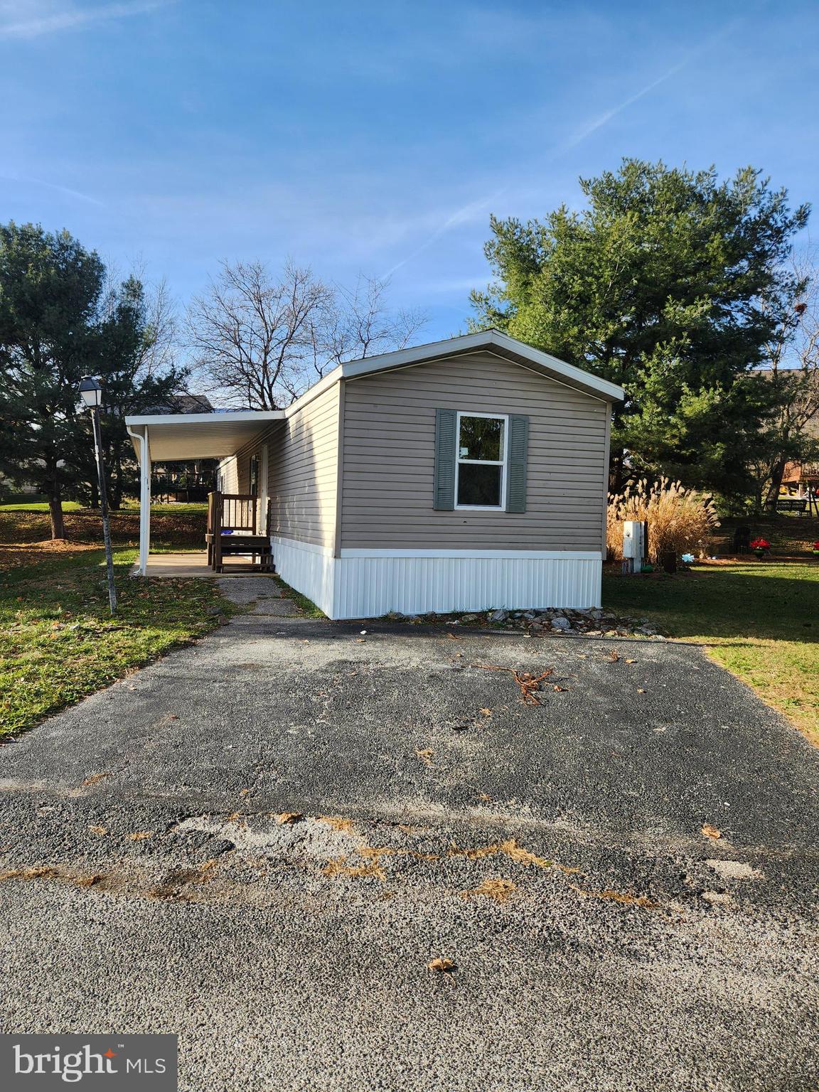
[[[4,1030],[176,1031],[191,1092],[817,1088],[794,728],[691,646],[285,609],[0,748]]]

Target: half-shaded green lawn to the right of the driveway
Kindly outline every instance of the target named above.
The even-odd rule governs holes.
[[[697,641],[819,744],[819,561],[705,563],[603,579],[603,604]]]

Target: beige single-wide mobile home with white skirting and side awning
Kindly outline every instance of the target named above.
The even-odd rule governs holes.
[[[142,464],[219,458],[331,618],[601,602],[619,387],[497,331],[340,365],[287,410],[129,417]]]

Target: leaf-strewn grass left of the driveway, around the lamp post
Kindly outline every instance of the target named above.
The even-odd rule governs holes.
[[[49,713],[218,625],[234,612],[212,580],[128,575],[115,554],[119,613],[108,613],[102,550],[44,557],[0,575],[0,736]]]

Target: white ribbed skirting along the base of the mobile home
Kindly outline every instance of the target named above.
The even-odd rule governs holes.
[[[330,557],[316,546],[273,538],[276,570],[330,618],[447,614],[505,607],[597,607],[602,560],[589,553],[515,556],[464,550],[449,556]],[[364,550],[356,550],[356,555]],[[455,556],[453,556],[455,555]]]

